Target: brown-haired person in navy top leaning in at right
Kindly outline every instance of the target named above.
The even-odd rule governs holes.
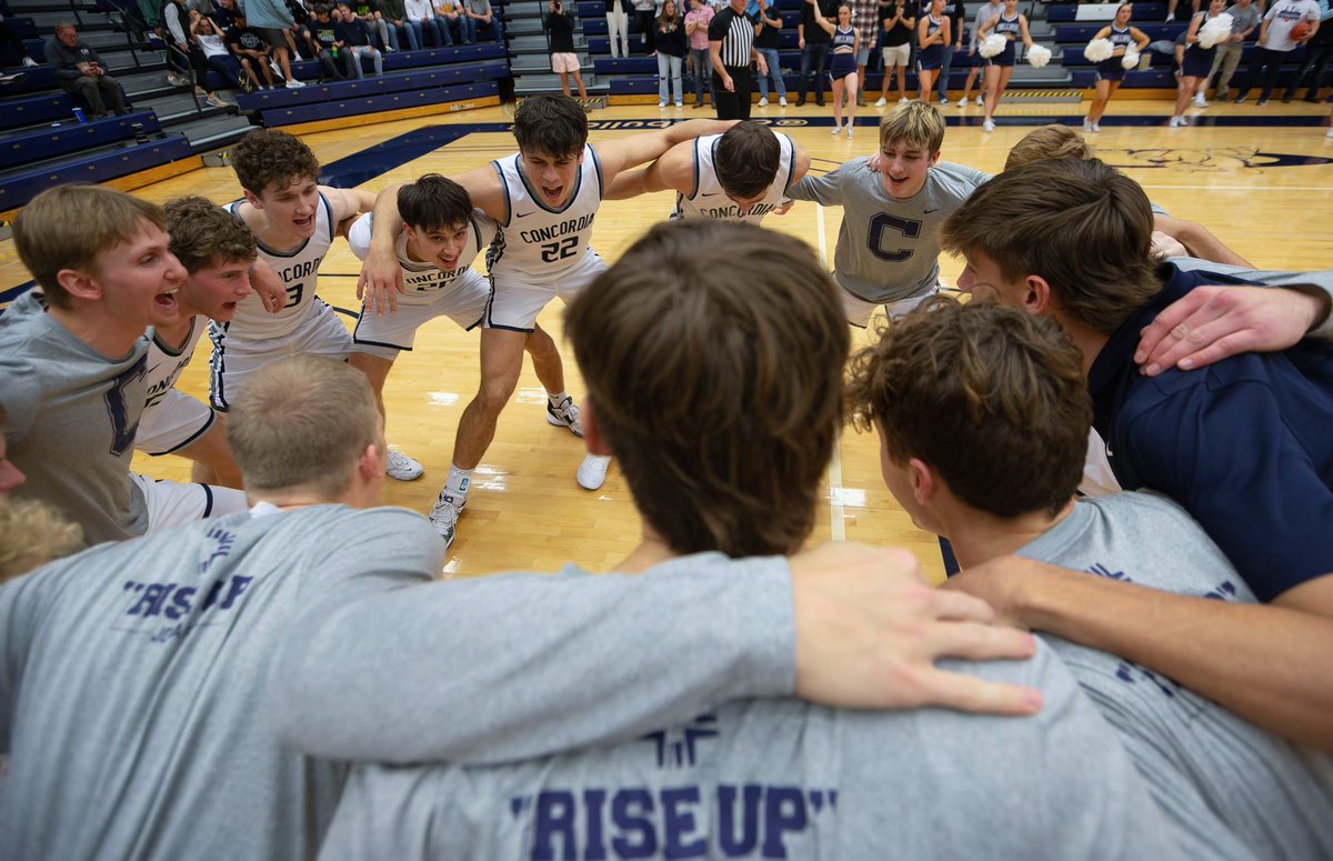
[[[1164,308],[1200,284],[1245,283],[1158,267],[1150,231],[1137,184],[1100,161],[1061,159],[997,176],[949,217],[941,241],[966,257],[960,288],[1061,324],[1084,355],[1093,425],[1121,486],[1180,502],[1268,606],[1060,569],[965,574],[958,588],[1333,750],[1333,360],[1326,345],[1298,344],[1144,376],[1140,335]],[[1326,293],[1269,292],[1306,305],[1301,331],[1328,316]],[[1184,626],[1189,637],[1164,636]]]

